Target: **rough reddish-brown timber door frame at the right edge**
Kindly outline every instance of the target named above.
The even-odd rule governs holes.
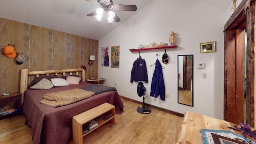
[[[229,120],[236,123],[236,116],[238,116],[239,109],[241,108],[240,101],[236,98],[236,90],[232,96],[232,102],[229,96],[227,95],[227,54],[229,48],[236,48],[236,30],[246,29],[247,44],[246,44],[246,124],[254,127],[254,22],[255,22],[255,0],[242,0],[235,12],[230,16],[228,21],[224,26],[224,120]],[[234,38],[234,39],[232,39]],[[229,42],[233,41],[233,44]],[[231,99],[232,99],[231,98]],[[240,102],[241,103],[241,102]],[[231,106],[234,105],[234,106]],[[231,108],[235,108],[236,115],[230,116],[228,111]],[[234,109],[232,109],[234,110]],[[235,120],[234,120],[235,119]],[[245,123],[245,122],[244,122]]]

